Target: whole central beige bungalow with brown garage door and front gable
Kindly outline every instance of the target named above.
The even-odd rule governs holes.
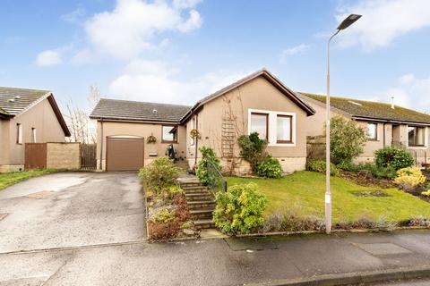
[[[237,139],[253,131],[268,140],[267,151],[284,172],[304,170],[310,115],[310,105],[263,69],[193,106],[103,98],[90,118],[98,122],[99,169],[138,170],[166,156],[172,144],[176,158],[190,166],[201,156],[198,148],[207,146],[215,149],[224,172],[246,174],[250,167],[239,156]],[[198,136],[192,138],[192,130]]]

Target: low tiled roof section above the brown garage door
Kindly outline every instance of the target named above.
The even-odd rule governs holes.
[[[190,110],[191,106],[168,105],[150,102],[101,98],[90,114],[91,119],[138,122],[175,122]]]

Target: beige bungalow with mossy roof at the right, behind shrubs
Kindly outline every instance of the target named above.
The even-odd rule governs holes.
[[[326,97],[308,93],[297,95],[316,111],[316,114],[307,120],[307,135],[323,135]],[[331,116],[334,115],[357,121],[367,130],[368,140],[364,153],[357,158],[357,162],[373,161],[375,150],[394,146],[409,150],[417,164],[430,163],[430,115],[394,104],[331,97]]]

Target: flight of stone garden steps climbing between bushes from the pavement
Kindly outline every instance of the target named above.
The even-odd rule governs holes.
[[[185,191],[186,205],[195,228],[199,230],[214,228],[212,213],[216,204],[211,191],[195,177],[179,178],[177,181]]]

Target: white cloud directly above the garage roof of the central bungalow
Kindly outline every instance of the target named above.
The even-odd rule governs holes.
[[[137,60],[114,80],[109,92],[114,97],[138,101],[193,105],[197,100],[239,80],[245,73],[211,72],[192,80],[177,80],[175,67]]]

